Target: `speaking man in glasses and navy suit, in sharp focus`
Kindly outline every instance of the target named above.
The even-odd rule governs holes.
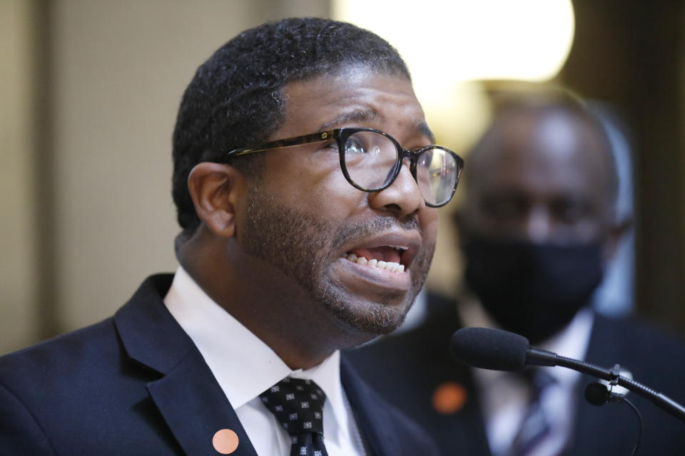
[[[368,31],[287,19],[226,43],[173,134],[176,274],[0,358],[0,454],[300,454],[260,398],[288,376],[325,393],[328,455],[435,454],[339,351],[421,289],[462,167],[432,142],[405,63]]]

